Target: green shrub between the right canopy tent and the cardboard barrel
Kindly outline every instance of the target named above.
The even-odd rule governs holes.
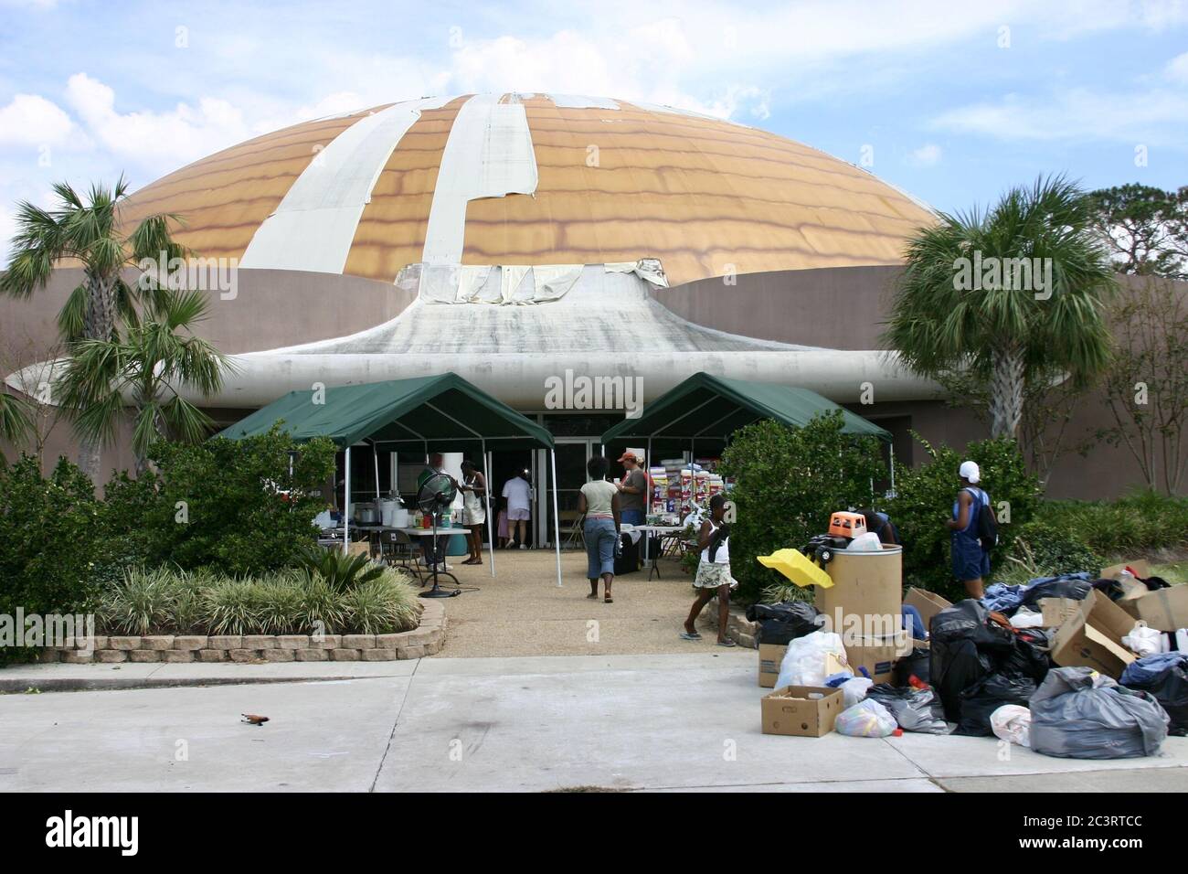
[[[741,599],[786,581],[757,555],[801,548],[828,529],[832,513],[872,503],[872,480],[886,476],[878,442],[841,428],[841,414],[834,411],[803,428],[764,420],[734,433],[721,470],[734,477],[731,573]]]

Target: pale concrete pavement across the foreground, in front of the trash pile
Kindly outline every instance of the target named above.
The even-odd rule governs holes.
[[[763,735],[754,658],[435,658],[317,683],[283,681],[310,665],[267,665],[267,684],[8,694],[0,790],[1188,790],[1180,737],[1097,762],[996,738]]]

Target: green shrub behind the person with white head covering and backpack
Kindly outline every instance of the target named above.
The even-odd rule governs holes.
[[[896,496],[885,508],[904,543],[904,585],[922,586],[949,601],[960,601],[966,593],[953,578],[950,532],[944,524],[953,518],[953,502],[961,488],[958,467],[965,460],[978,463],[979,485],[990,493],[999,518],[999,543],[991,553],[991,579],[997,579],[996,574],[1003,570],[1019,528],[1035,517],[1040,482],[1028,471],[1016,442],[1007,438],[971,442],[960,453],[947,446],[934,447],[920,435],[916,439],[931,458],[897,474]]]

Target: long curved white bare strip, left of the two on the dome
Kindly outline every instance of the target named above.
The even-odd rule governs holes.
[[[257,228],[239,265],[341,273],[364,207],[392,151],[422,109],[450,100],[413,100],[360,117],[314,156],[277,210]]]

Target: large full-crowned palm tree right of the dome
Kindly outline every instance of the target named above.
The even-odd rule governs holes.
[[[939,219],[908,244],[883,342],[921,376],[985,384],[992,435],[1013,438],[1029,388],[1083,385],[1110,361],[1117,285],[1091,201],[1057,176]]]

